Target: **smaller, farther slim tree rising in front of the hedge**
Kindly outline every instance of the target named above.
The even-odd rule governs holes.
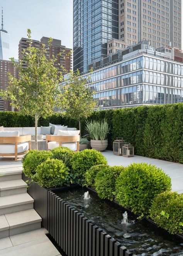
[[[77,70],[75,73],[71,71],[69,79],[66,80],[64,93],[66,115],[78,121],[80,131],[81,119],[86,119],[96,107],[96,102],[93,99],[95,92],[92,92],[89,86],[86,86],[89,79],[89,76],[87,78],[80,76],[80,71]]]

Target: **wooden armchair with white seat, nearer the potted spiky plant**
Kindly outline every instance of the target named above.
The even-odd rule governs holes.
[[[51,145],[49,145],[49,142],[54,142]],[[80,135],[76,136],[58,136],[58,135],[46,135],[46,145],[47,145],[47,150],[50,150],[54,147],[58,146],[66,146],[66,144],[76,144],[76,150],[74,151],[79,151],[80,150]],[[65,144],[65,145],[64,145]]]

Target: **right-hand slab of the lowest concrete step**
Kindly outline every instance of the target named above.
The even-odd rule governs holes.
[[[5,218],[10,226],[9,236],[41,228],[42,219],[34,209],[5,214]]]

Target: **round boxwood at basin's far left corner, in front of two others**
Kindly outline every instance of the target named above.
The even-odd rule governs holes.
[[[69,169],[58,159],[47,159],[37,166],[36,174],[33,177],[40,186],[45,188],[63,186],[68,182]]]

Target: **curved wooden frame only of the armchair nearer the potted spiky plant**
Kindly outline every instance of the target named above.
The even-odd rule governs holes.
[[[77,150],[76,151],[80,150],[80,135],[76,135],[76,136],[46,135],[46,147],[47,147],[48,142],[50,142],[50,141],[59,142],[59,146],[62,146],[62,143],[77,142]]]

